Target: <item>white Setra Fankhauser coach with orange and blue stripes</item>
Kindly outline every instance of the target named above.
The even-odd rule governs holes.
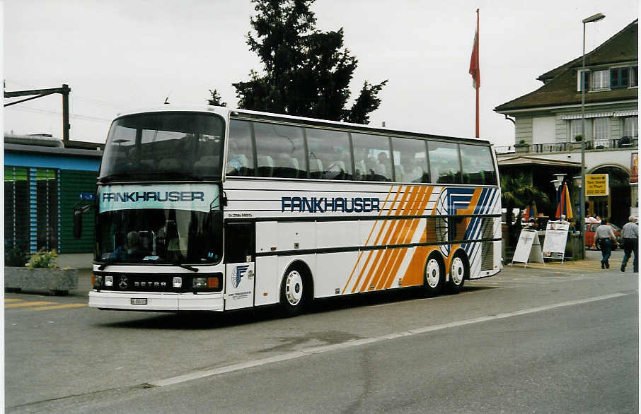
[[[224,107],[112,123],[89,306],[225,311],[498,273],[487,141]]]

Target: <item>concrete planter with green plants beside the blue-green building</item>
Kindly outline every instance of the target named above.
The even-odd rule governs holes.
[[[19,249],[9,253],[4,266],[4,288],[8,292],[47,290],[54,295],[68,295],[69,290],[78,288],[78,269],[57,266],[55,250],[47,252],[42,248],[30,257]]]

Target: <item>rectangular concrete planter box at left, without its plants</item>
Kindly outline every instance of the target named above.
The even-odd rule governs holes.
[[[63,268],[4,268],[4,288],[7,291],[46,290],[54,295],[68,295],[78,289],[78,269]]]

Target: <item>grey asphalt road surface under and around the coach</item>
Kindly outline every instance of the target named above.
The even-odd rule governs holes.
[[[636,413],[638,284],[620,256],[609,271],[506,266],[459,295],[325,300],[293,319],[6,294],[6,410]]]

